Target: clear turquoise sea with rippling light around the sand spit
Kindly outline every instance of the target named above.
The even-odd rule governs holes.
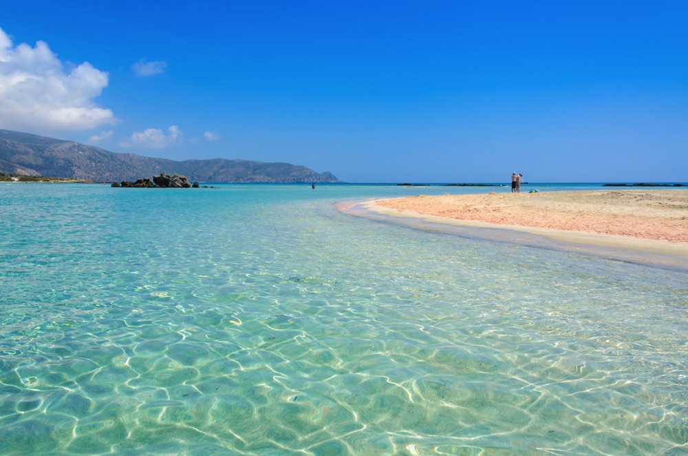
[[[0,184],[0,454],[688,453],[685,269],[215,187]]]

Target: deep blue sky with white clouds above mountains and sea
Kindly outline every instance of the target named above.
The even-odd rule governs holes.
[[[0,128],[347,182],[688,181],[684,1],[32,1]]]

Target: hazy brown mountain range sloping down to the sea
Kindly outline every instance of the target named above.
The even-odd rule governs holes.
[[[118,154],[100,147],[0,129],[0,171],[28,176],[54,176],[117,182],[165,172],[196,182],[338,183],[330,172],[301,165],[250,160],[168,160]]]

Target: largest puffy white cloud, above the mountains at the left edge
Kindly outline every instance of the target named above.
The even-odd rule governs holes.
[[[12,45],[0,28],[0,128],[89,129],[116,122],[92,101],[108,74],[84,62],[69,72],[47,43]]]

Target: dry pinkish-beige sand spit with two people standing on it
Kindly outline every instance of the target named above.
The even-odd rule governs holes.
[[[372,209],[550,234],[560,231],[657,241],[688,251],[688,190],[418,195],[377,200]]]

